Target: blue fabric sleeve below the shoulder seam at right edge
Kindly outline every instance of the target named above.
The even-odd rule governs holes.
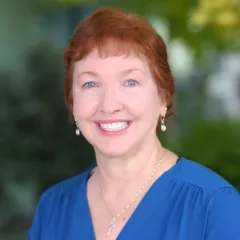
[[[240,194],[219,189],[209,200],[204,240],[240,240]]]

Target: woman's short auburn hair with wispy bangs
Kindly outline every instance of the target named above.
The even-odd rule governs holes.
[[[75,28],[64,54],[65,101],[72,115],[74,63],[97,49],[100,57],[136,54],[148,61],[160,96],[171,107],[174,80],[162,37],[141,16],[112,7],[98,8]],[[160,126],[160,120],[158,128]]]

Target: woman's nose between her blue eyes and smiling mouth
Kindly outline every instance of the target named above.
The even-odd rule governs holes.
[[[123,105],[116,88],[106,88],[101,96],[100,111],[105,114],[113,114],[122,110]]]

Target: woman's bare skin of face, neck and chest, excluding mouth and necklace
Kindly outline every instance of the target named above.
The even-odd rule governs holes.
[[[160,116],[166,114],[146,59],[134,54],[101,58],[96,50],[76,62],[73,74],[73,114],[93,146],[97,167],[87,185],[88,202],[97,239],[105,239],[111,218],[141,188],[163,147],[156,136]],[[105,135],[101,121],[130,121],[121,134]],[[177,156],[164,150],[164,163],[155,180],[171,168]],[[116,238],[135,210],[133,206],[112,232]],[[99,221],[100,219],[100,221]]]

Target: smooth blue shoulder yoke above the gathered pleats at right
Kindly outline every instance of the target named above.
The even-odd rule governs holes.
[[[179,171],[175,178],[201,188],[209,194],[222,188],[234,188],[227,180],[210,168],[184,157],[181,158]]]

